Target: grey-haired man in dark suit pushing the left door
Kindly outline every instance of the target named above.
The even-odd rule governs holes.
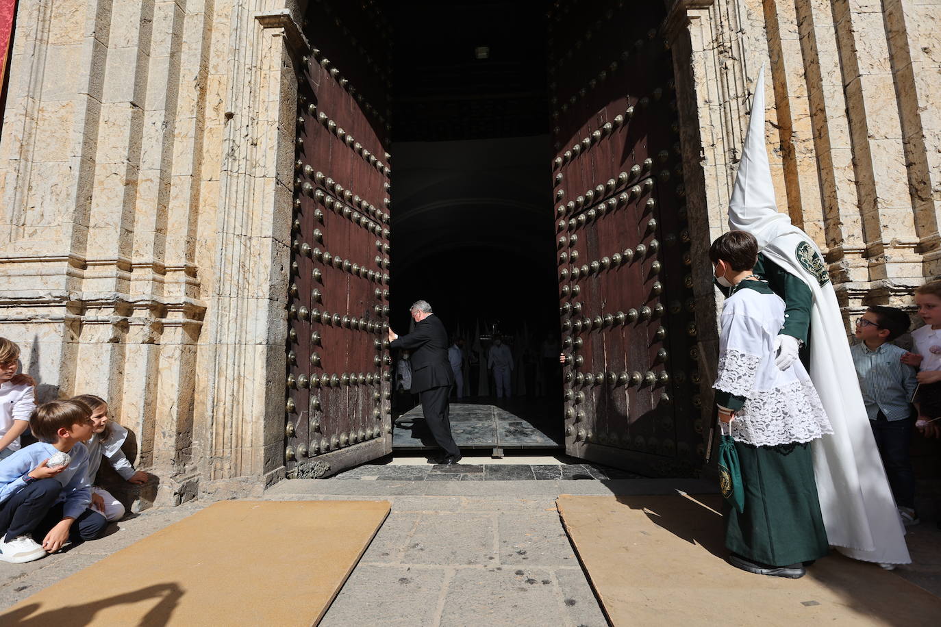
[[[461,451],[451,435],[451,420],[448,418],[448,396],[455,384],[455,375],[448,362],[448,332],[425,301],[417,301],[409,311],[415,321],[415,329],[399,337],[390,328],[390,347],[411,351],[411,391],[419,394],[428,430],[444,450],[444,456],[436,462],[452,465],[461,459]]]

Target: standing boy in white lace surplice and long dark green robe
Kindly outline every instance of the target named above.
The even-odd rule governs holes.
[[[775,362],[784,301],[753,274],[758,243],[730,231],[710,248],[715,277],[731,293],[722,309],[713,387],[723,432],[735,440],[744,509],[726,508],[728,562],[743,571],[796,579],[829,551],[810,443],[832,433],[801,364]]]

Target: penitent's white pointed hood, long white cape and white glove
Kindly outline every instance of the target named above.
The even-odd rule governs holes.
[[[817,244],[790,223],[787,213],[778,212],[765,149],[764,93],[762,68],[745,133],[742,162],[728,204],[728,226],[748,231],[758,240],[765,263],[763,277],[775,291],[782,283],[775,285],[769,274],[777,272],[789,275],[788,278],[796,277],[812,294],[809,306],[804,307],[805,312],[809,309],[809,324],[803,324],[803,334],[789,330],[787,323],[782,329],[777,342],[778,365],[786,368],[797,357],[801,335],[805,335],[810,377],[833,427],[832,434],[813,444],[814,475],[827,540],[840,553],[855,559],[886,566],[908,564],[912,560],[904,528],[869,428],[826,264]],[[788,293],[780,292],[778,295],[787,303],[789,317],[799,317],[799,307],[792,306],[801,299],[800,295],[789,297]]]

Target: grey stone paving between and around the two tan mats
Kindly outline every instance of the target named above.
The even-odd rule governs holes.
[[[328,627],[577,627],[607,623],[566,537],[556,497],[714,490],[710,482],[692,479],[613,478],[619,474],[594,464],[554,464],[557,474],[540,468],[553,464],[537,460],[504,465],[507,469],[498,471],[483,463],[461,469],[368,464],[336,478],[283,481],[264,498],[391,501],[389,518],[327,612],[322,624]],[[488,471],[491,480],[486,480]],[[534,480],[537,476],[541,480]],[[936,495],[925,503],[922,525],[909,530],[916,563],[896,573],[941,596],[941,530],[933,522],[941,513],[933,508]],[[0,562],[0,607],[200,507],[189,503],[148,510],[121,521],[120,528],[101,541],[30,564]]]

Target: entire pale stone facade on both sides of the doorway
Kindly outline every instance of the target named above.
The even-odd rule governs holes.
[[[938,0],[666,0],[696,259],[769,64],[778,199],[847,311],[939,273]],[[0,138],[0,334],[95,393],[156,500],[282,476],[299,0],[21,0]],[[694,264],[704,391],[709,264]],[[150,497],[149,497],[150,498]]]

